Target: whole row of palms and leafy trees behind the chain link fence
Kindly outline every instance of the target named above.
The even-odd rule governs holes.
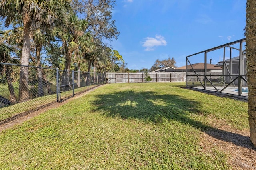
[[[104,43],[120,34],[112,19],[115,5],[114,0],[1,1],[0,62],[68,71],[119,71],[126,65],[122,55]],[[3,31],[3,24],[11,29]],[[12,67],[1,67],[10,81]],[[36,78],[40,91],[42,69],[37,69]],[[29,98],[28,79],[28,67],[20,67],[19,102]]]

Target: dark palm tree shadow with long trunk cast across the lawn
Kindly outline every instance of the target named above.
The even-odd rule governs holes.
[[[164,119],[175,120],[191,125],[216,139],[255,150],[248,136],[219,130],[192,119],[191,114],[199,114],[200,103],[179,95],[122,91],[98,95],[94,104],[107,117],[120,116],[122,119],[135,118],[152,123],[162,123]]]

